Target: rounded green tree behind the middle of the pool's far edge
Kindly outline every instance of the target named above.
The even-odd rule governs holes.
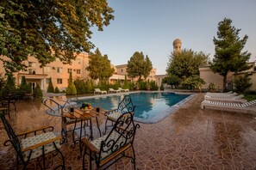
[[[139,77],[140,81],[142,77],[146,79],[152,69],[152,62],[147,56],[144,57],[143,52],[134,52],[134,55],[128,61],[126,71],[128,76]]]

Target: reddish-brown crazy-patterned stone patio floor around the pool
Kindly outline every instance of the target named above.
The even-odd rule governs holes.
[[[159,123],[140,123],[134,140],[137,168],[256,169],[256,116],[201,110],[202,100],[203,94],[197,94]],[[10,113],[9,121],[17,133],[39,125],[53,125],[55,132],[60,131],[60,118],[47,115],[40,100],[18,101],[16,106],[17,112]],[[103,116],[100,123],[104,123]],[[103,130],[103,125],[101,128]],[[0,121],[0,169],[3,170],[16,168],[15,150],[3,146],[7,139]],[[66,167],[82,169],[78,147],[73,149],[71,140],[61,151]],[[28,165],[28,169],[38,168],[36,161]],[[133,168],[130,161],[123,158],[109,169]]]

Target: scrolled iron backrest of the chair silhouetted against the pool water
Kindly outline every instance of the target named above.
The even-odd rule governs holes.
[[[135,106],[133,104],[132,98],[129,95],[125,95],[122,101],[118,104],[118,112],[134,112]]]

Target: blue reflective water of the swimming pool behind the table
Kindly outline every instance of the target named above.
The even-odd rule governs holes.
[[[114,94],[86,98],[82,102],[100,106],[106,110],[116,109],[125,94]],[[174,94],[167,92],[140,92],[129,94],[135,107],[134,120],[142,123],[156,123],[171,112],[177,110],[189,100],[190,94]]]

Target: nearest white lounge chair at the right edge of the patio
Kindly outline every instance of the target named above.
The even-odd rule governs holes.
[[[253,112],[256,113],[256,100],[248,101],[246,103],[233,103],[222,101],[203,100],[201,108],[211,108],[216,110],[231,110],[233,112]]]

